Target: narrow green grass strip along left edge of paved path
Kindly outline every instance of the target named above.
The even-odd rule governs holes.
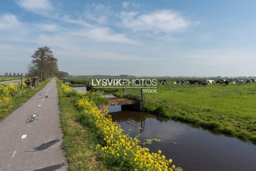
[[[0,122],[8,116],[10,113],[12,113],[14,110],[16,110],[18,107],[23,105],[26,101],[28,101],[31,97],[33,97],[38,91],[40,91],[51,79],[45,80],[43,83],[39,84],[36,88],[27,90],[23,96],[18,97],[12,97],[11,106],[8,107],[8,113],[2,112],[0,113],[2,117],[0,117]],[[0,107],[0,111],[3,111],[6,107],[2,106]]]

